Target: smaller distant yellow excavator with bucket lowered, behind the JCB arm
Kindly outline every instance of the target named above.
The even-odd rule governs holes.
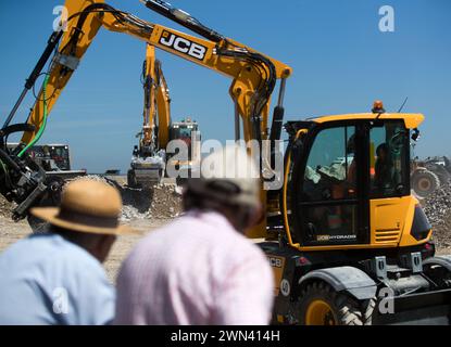
[[[155,48],[147,44],[142,65],[142,86],[145,91],[143,124],[138,133],[139,144],[134,147],[127,183],[131,188],[152,189],[165,175],[166,153],[170,141],[180,140],[188,144],[188,154],[195,141],[200,140],[199,125],[190,117],[173,123],[171,119],[171,98],[162,64],[155,59]],[[191,170],[193,164],[188,157],[184,163],[172,163],[180,169]],[[188,172],[187,172],[188,174]]]

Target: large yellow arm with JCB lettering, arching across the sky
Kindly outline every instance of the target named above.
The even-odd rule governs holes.
[[[192,63],[211,68],[233,78],[229,89],[236,110],[242,118],[245,140],[267,139],[267,119],[271,94],[276,79],[290,76],[291,68],[274,59],[229,38],[209,30],[189,14],[166,9],[163,1],[143,1],[148,8],[162,14],[172,13],[175,22],[209,36],[198,38],[172,28],[152,24],[116,10],[102,0],[67,0],[67,29],[62,34],[53,57],[46,87],[48,113],[66,86],[100,27],[134,36],[150,46],[178,55]],[[53,34],[58,35],[58,34]],[[61,35],[61,34],[59,34]],[[22,141],[29,143],[43,124],[43,90],[32,108],[28,123],[34,131],[24,133]]]

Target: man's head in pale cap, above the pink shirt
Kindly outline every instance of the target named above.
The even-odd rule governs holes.
[[[201,177],[188,180],[184,208],[220,213],[245,232],[262,217],[259,172],[245,147],[227,145],[215,151],[202,160]]]

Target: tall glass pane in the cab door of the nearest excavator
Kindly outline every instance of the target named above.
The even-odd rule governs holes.
[[[303,244],[358,241],[355,127],[321,130],[306,160],[301,190]]]

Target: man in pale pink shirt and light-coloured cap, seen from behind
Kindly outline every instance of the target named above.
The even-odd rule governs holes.
[[[261,217],[255,164],[240,146],[203,160],[186,215],[150,233],[117,279],[116,324],[267,324],[273,274],[243,232]]]

